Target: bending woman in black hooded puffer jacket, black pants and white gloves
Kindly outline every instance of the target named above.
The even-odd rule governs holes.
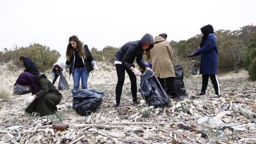
[[[137,101],[137,78],[141,73],[137,70],[133,64],[135,58],[139,66],[143,70],[150,70],[145,66],[142,61],[142,56],[146,53],[147,59],[150,59],[150,49],[154,46],[154,39],[151,34],[145,34],[141,40],[130,41],[124,44],[121,48],[118,49],[115,54],[115,66],[117,73],[117,84],[116,84],[116,105],[115,108],[120,107],[120,98],[122,94],[122,89],[125,81],[125,71],[128,73],[131,81],[131,93],[133,104],[139,104]]]

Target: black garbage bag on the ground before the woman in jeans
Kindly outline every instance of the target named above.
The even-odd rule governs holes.
[[[95,112],[102,103],[103,91],[94,89],[72,89],[73,107],[82,116]]]

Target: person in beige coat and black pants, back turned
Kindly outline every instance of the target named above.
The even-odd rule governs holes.
[[[164,88],[166,79],[167,93],[172,92],[175,99],[180,99],[175,84],[175,72],[173,68],[173,51],[171,45],[166,41],[167,34],[159,34],[155,37],[152,53],[152,70],[155,72],[161,86]]]

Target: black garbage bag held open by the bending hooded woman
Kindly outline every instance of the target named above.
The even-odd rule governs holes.
[[[146,71],[141,76],[139,92],[150,106],[167,106],[169,104],[169,97],[152,71]]]

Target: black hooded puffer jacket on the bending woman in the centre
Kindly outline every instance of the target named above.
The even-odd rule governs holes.
[[[151,43],[152,45],[148,48],[150,50],[154,46],[154,39],[151,34],[145,34],[141,40],[138,41],[131,41],[123,45],[121,48],[118,49],[115,57],[122,61],[123,66],[126,69],[131,67],[131,64],[134,62],[135,58],[139,66],[145,69],[145,64],[142,61],[142,56],[144,50],[142,49],[142,45],[145,43]]]

